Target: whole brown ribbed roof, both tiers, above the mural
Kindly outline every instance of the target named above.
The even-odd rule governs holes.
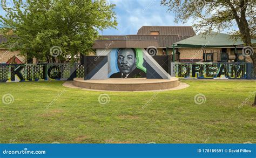
[[[151,31],[159,31],[159,35],[150,35]],[[137,35],[126,35],[126,36],[101,36],[99,40],[96,40],[93,48],[104,48],[103,43],[109,42],[108,40],[137,40],[134,47],[146,48],[145,46],[150,44],[149,42],[142,43],[141,41],[156,41],[157,43],[152,46],[157,48],[166,48],[172,46],[173,43],[179,42],[180,40],[195,36],[192,26],[142,26],[138,30]],[[130,42],[132,43],[132,42]],[[145,44],[146,43],[146,44]],[[124,43],[113,45],[114,47],[123,47]]]

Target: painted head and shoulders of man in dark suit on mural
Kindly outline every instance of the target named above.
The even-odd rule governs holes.
[[[113,73],[110,78],[146,78],[146,73],[136,67],[136,51],[134,49],[119,49],[117,65],[119,72]]]

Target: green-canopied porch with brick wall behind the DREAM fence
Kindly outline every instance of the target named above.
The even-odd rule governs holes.
[[[252,44],[256,40],[252,39]],[[256,47],[244,46],[225,33],[211,32],[211,35],[197,35],[173,43],[166,49],[172,52],[173,62],[252,62],[250,55]]]

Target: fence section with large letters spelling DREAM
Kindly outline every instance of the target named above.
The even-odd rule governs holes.
[[[252,63],[171,63],[171,76],[184,79],[256,79]]]

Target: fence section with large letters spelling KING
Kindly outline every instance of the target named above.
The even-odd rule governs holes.
[[[81,64],[0,64],[0,82],[73,80],[84,77]]]

